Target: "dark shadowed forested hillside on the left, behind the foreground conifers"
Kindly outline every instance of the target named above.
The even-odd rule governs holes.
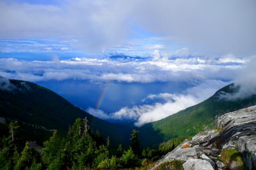
[[[32,82],[10,82],[16,88],[9,91],[0,90],[0,117],[6,119],[6,124],[12,120],[19,121],[24,140],[42,144],[52,135],[51,129],[57,129],[64,135],[76,118],[87,117],[92,130],[95,132],[98,129],[105,139],[109,136],[113,147],[117,147],[119,143],[124,146],[130,144],[128,139],[132,131],[131,124],[109,123],[98,119],[51,90]],[[6,133],[6,126],[0,124],[0,133]]]

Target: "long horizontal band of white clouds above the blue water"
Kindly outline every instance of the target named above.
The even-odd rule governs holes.
[[[92,80],[97,82],[194,82],[234,80],[241,64],[219,64],[219,58],[204,56],[176,57],[155,50],[152,57],[133,59],[72,58],[60,60],[52,55],[52,61],[23,61],[0,59],[0,76],[32,82],[47,80]]]

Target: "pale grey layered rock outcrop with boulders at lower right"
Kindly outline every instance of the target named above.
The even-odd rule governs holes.
[[[189,147],[182,147],[184,145]],[[236,147],[244,155],[244,162],[249,169],[256,169],[256,106],[218,117],[216,129],[198,133],[191,141],[185,140],[158,160],[152,169],[171,160],[184,161],[185,170],[203,169],[204,166],[207,166],[207,170],[224,168],[224,164],[219,161],[221,150]]]

